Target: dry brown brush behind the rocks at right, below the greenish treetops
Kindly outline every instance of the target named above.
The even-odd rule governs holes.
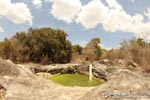
[[[123,59],[126,62],[134,61],[145,72],[150,72],[150,46],[128,46],[126,48],[119,48],[105,52],[102,59]]]

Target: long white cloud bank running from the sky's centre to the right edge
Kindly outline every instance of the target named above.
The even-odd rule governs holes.
[[[97,24],[102,24],[106,31],[131,32],[136,37],[150,42],[150,22],[144,22],[143,15],[136,14],[131,16],[123,10],[123,7],[116,0],[107,0],[107,3],[109,9],[100,0],[93,0],[83,6],[77,22],[80,22],[85,28],[93,28]],[[103,9],[100,10],[100,8]],[[150,17],[149,9],[145,15],[148,18]]]

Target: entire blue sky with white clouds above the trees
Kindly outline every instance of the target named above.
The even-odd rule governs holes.
[[[105,48],[124,39],[150,41],[149,0],[1,0],[0,41],[30,27],[60,28],[73,44],[99,37]]]

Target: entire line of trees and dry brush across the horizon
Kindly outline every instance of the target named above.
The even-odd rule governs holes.
[[[91,39],[82,47],[72,45],[67,36],[65,31],[52,28],[30,28],[27,32],[17,32],[12,38],[0,42],[0,57],[16,63],[41,64],[124,59],[136,62],[150,72],[150,43],[143,39],[122,41],[120,48],[104,50],[100,47],[99,38]]]

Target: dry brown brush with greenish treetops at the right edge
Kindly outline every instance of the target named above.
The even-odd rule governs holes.
[[[150,72],[150,43],[143,39],[124,40],[120,43],[120,48],[104,52],[102,59],[124,59],[127,62],[136,62],[144,71]]]

